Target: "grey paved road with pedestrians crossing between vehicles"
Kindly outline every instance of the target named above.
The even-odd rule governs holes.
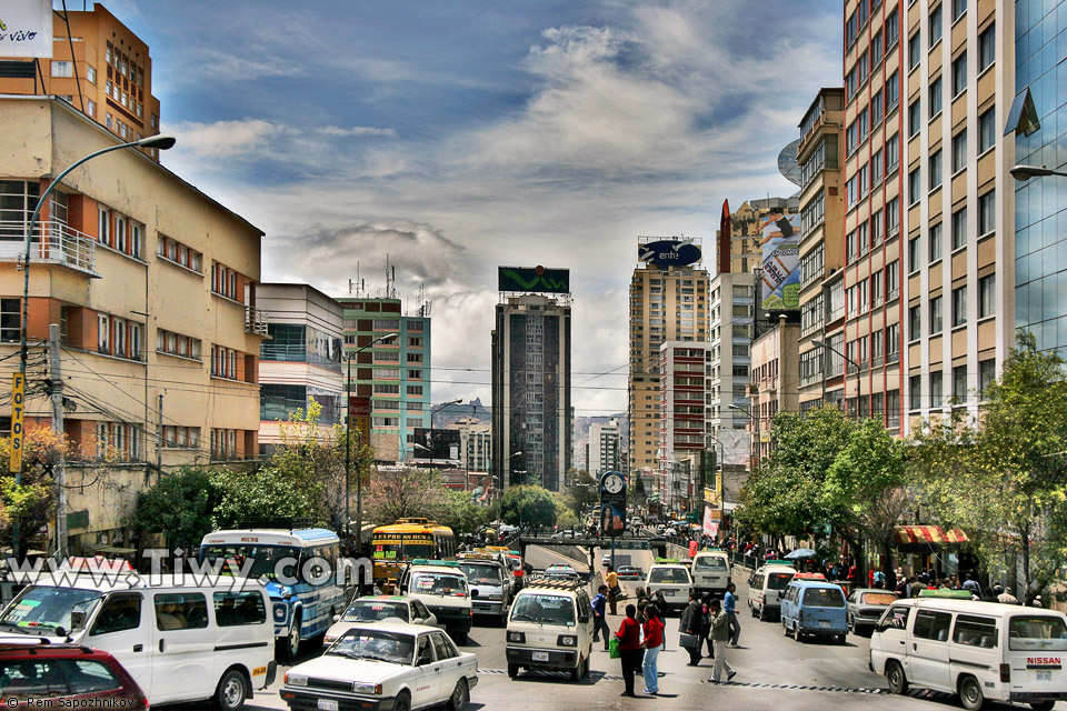
[[[739,591],[745,600],[746,590]],[[744,604],[744,602],[741,603]],[[620,617],[609,617],[612,630]],[[678,620],[668,620],[667,650],[659,655],[661,674],[659,698],[619,698],[622,691],[618,660],[595,651],[590,677],[581,683],[571,683],[558,674],[523,673],[511,680],[507,675],[505,630],[476,627],[465,649],[478,655],[480,681],[471,692],[471,709],[515,709],[523,711],[581,709],[688,709],[706,710],[712,707],[728,709],[798,709],[816,711],[832,708],[862,709],[862,711],[955,711],[958,702],[948,694],[913,691],[907,697],[894,697],[885,689],[885,680],[867,670],[868,641],[848,635],[844,645],[828,642],[796,642],[785,638],[778,622],[760,622],[741,609],[741,649],[728,650],[728,659],[737,669],[729,684],[708,682],[710,660],[699,668],[686,667],[688,655],[678,648]],[[599,645],[596,648],[600,649]],[[250,711],[285,709],[278,697],[281,677],[273,688],[258,692],[249,704]],[[642,688],[640,677],[637,691]],[[193,707],[171,707],[176,711],[191,711]],[[1019,709],[1007,704],[989,704],[988,709]],[[1065,704],[1059,704],[1060,709]]]

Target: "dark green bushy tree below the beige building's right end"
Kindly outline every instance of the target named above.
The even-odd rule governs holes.
[[[143,533],[161,534],[168,549],[192,551],[211,531],[219,501],[211,473],[185,467],[137,495],[128,524]]]

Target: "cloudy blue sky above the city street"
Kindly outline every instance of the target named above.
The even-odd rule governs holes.
[[[637,238],[714,269],[722,201],[795,193],[778,153],[841,84],[840,2],[104,7],[150,48],[161,162],[263,230],[262,281],[425,287],[436,402],[489,403],[497,267],[542,264],[570,269],[576,414],[625,411]]]

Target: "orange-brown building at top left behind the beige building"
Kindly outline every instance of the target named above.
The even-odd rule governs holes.
[[[0,71],[0,94],[58,97],[123,142],[159,133],[148,44],[100,3],[57,12],[52,34],[51,59],[26,60],[24,73],[10,63]]]

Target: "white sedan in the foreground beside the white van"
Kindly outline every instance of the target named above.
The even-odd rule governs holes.
[[[293,711],[463,709],[477,683],[478,660],[441,630],[380,622],[352,627],[322,657],[290,669],[281,699]]]

